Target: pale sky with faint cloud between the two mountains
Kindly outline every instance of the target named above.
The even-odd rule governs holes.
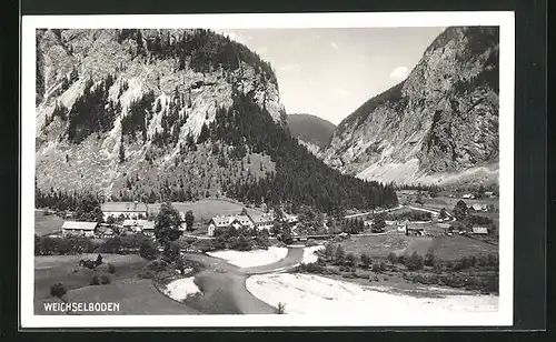
[[[290,113],[338,124],[403,81],[445,28],[217,30],[270,62]]]

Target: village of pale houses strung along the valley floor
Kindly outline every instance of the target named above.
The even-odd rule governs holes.
[[[454,234],[460,235],[493,235],[493,229],[487,227],[487,224],[480,224],[480,222],[474,222],[471,227],[464,227],[460,222],[457,222],[453,213],[453,210],[446,210],[446,208],[438,208],[435,205],[435,199],[428,199],[427,205],[420,199],[423,195],[418,194],[417,191],[411,190],[400,190],[398,191],[400,199],[405,200],[405,204],[398,205],[398,208],[387,209],[387,210],[374,210],[373,212],[363,212],[346,215],[346,220],[360,220],[363,221],[363,230],[358,232],[359,235],[371,235],[381,233],[398,233],[406,235],[421,235],[421,237],[433,237],[433,235],[447,235],[451,237]],[[493,192],[486,192],[485,198],[495,199]],[[416,200],[416,198],[418,198]],[[455,199],[454,194],[446,195],[447,199]],[[459,195],[460,200],[474,201],[476,195],[473,193],[464,193]],[[218,203],[225,200],[212,200],[211,203]],[[477,202],[466,204],[466,210],[477,214],[492,213],[494,211],[493,204],[486,202]],[[178,203],[179,207],[179,203]],[[155,240],[155,223],[156,217],[160,204],[147,204],[141,202],[105,202],[101,204],[103,222],[83,222],[77,221],[73,218],[72,212],[58,213],[63,215],[63,223],[59,230],[52,229],[48,234],[49,237],[86,237],[96,239],[110,239],[116,235],[126,234],[143,234],[146,237]],[[265,230],[272,235],[272,227],[276,221],[275,213],[272,211],[264,211],[246,208],[241,208],[240,203],[235,205],[236,212],[230,210],[225,210],[226,213],[211,211],[215,213],[211,217],[201,213],[200,217],[193,217],[195,224],[192,229],[187,228],[186,214],[187,211],[179,211],[181,218],[181,224],[179,230],[185,237],[192,237],[198,239],[212,239],[217,230],[226,230],[228,228],[235,229],[256,229]],[[425,213],[424,215],[427,220],[415,220],[410,215],[396,215],[393,213],[404,213],[403,211],[413,211],[418,213]],[[46,214],[53,214],[46,210],[38,210],[38,212],[43,212]],[[189,210],[189,214],[193,213]],[[376,222],[376,217],[383,214],[384,223]],[[306,241],[307,239],[317,240],[328,240],[336,235],[346,237],[348,233],[353,233],[342,228],[339,230],[330,229],[331,219],[326,219],[321,222],[322,229],[319,233],[307,233],[302,230],[302,227],[307,222],[299,222],[299,215],[297,214],[281,214],[280,221],[287,224],[291,230],[291,235],[294,241]],[[488,222],[487,222],[488,223]]]

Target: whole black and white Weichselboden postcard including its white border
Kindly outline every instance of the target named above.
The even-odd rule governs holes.
[[[22,30],[23,326],[513,324],[512,12]]]

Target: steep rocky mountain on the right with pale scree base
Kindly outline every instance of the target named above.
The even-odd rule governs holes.
[[[325,162],[396,183],[497,183],[499,32],[451,27],[407,79],[340,122]]]

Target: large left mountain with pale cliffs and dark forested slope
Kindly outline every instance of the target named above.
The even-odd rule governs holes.
[[[111,200],[395,205],[287,129],[271,66],[210,30],[38,30],[37,205]]]

